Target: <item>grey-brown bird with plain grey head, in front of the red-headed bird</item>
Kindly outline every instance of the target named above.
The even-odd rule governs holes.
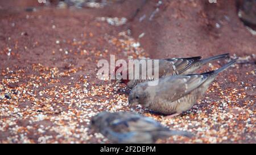
[[[203,97],[217,75],[236,60],[207,73],[163,77],[155,86],[149,86],[148,82],[139,83],[130,91],[129,106],[141,104],[149,110],[168,115],[166,118],[180,115]]]

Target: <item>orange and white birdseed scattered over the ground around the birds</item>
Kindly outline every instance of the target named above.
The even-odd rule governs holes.
[[[30,15],[23,14],[22,20],[31,20],[29,24],[33,25],[42,22],[41,19],[46,18],[45,16],[47,15],[35,16],[31,12]],[[51,19],[53,20],[52,16],[47,16],[47,21]],[[9,27],[22,25],[14,19],[8,20],[15,23],[9,23]],[[118,59],[148,58],[148,55],[138,40],[129,35],[130,31],[119,32],[115,29],[117,32],[110,32],[107,30],[112,31],[116,27],[95,21],[94,18],[91,21],[92,27],[77,30],[78,35],[55,35],[58,36],[58,41],[53,39],[52,43],[49,41],[44,44],[32,37],[30,44],[25,41],[24,44],[19,42],[16,45],[15,35],[6,36],[10,38],[7,40],[10,42],[0,49],[0,55],[7,60],[7,53],[12,49],[8,62],[14,62],[11,58],[19,60],[24,54],[21,53],[23,51],[28,53],[39,49],[40,44],[52,44],[56,48],[44,51],[43,46],[40,47],[43,48],[44,56],[51,55],[51,60],[33,61],[29,55],[25,55],[28,62],[24,61],[24,65],[22,59],[19,60],[22,63],[18,65],[1,64],[0,143],[111,143],[106,137],[92,132],[89,128],[90,119],[101,111],[134,111],[151,117],[170,129],[189,131],[195,135],[191,139],[173,136],[159,140],[158,143],[256,142],[255,64],[236,64],[225,70],[214,80],[204,98],[191,110],[166,119],[165,115],[156,114],[141,106],[129,108],[127,98],[130,90],[121,84],[113,87],[109,81],[105,81],[106,78],[96,78],[97,71],[94,70],[97,61],[102,58],[109,60],[112,53]],[[54,31],[67,27],[55,22],[42,25],[51,31],[53,24],[56,26]],[[80,24],[84,25],[83,22]],[[101,31],[99,23],[105,24],[106,30]],[[20,36],[20,30],[25,29],[15,29],[17,36],[25,37]],[[30,33],[32,35],[32,31]],[[65,51],[68,51],[68,55]],[[56,62],[52,61],[54,58],[61,63],[51,64]],[[255,56],[239,58],[245,62],[251,61]],[[213,62],[200,71],[217,69],[223,64],[225,62]]]

